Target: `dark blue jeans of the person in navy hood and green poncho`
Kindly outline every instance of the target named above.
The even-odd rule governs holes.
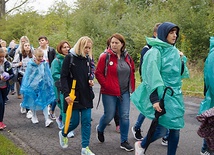
[[[155,133],[152,137],[151,143],[154,142],[155,140],[164,137],[168,132],[168,129],[163,127],[162,125],[158,124]],[[169,129],[169,136],[168,136],[168,146],[167,146],[167,155],[175,155],[178,142],[179,142],[179,137],[180,137],[180,130],[174,130],[174,129]],[[143,139],[141,142],[141,147],[145,148],[147,141],[147,136]]]

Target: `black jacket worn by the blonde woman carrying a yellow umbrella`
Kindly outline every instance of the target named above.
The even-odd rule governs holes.
[[[89,86],[90,62],[88,58],[73,55],[72,64],[70,64],[71,55],[68,54],[62,64],[61,70],[61,90],[64,98],[69,96],[72,86],[72,80],[76,79],[75,96],[73,109],[93,108],[94,93]],[[71,75],[73,78],[71,78]],[[67,109],[67,102],[64,100],[64,111]]]

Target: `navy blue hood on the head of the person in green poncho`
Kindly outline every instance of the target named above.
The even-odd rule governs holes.
[[[158,39],[164,41],[164,42],[167,42],[167,35],[169,34],[170,30],[173,29],[173,28],[177,28],[178,31],[177,31],[177,39],[178,39],[178,36],[179,36],[179,27],[171,22],[164,22],[162,23],[160,26],[158,26]]]

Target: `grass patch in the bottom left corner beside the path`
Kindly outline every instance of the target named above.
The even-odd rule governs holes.
[[[0,155],[26,155],[26,153],[11,140],[0,134]]]

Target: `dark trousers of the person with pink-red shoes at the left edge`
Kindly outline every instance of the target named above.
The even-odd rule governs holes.
[[[5,111],[5,100],[7,97],[7,88],[0,89],[0,122],[3,122]]]

